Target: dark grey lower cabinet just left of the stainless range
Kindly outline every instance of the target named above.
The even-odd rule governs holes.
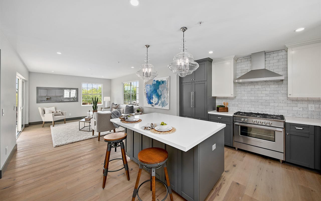
[[[208,114],[208,120],[226,124],[224,128],[224,144],[233,147],[233,116]]]

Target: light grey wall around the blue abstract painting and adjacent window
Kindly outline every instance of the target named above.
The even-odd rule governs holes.
[[[138,70],[139,68],[137,68]],[[171,70],[167,67],[156,68],[158,71],[157,77],[165,77],[169,76],[169,110],[144,107],[144,113],[163,113],[163,114],[171,114],[171,115],[179,115],[179,87],[178,87],[178,76],[175,75]],[[123,82],[128,81],[139,81],[139,106],[143,105],[144,99],[144,80],[140,79],[136,74],[131,74],[127,76],[123,76],[120,78],[114,78],[111,80],[111,102],[117,104],[123,104]]]

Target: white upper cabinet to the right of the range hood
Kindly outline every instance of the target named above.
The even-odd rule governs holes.
[[[288,97],[321,97],[321,38],[285,45]]]

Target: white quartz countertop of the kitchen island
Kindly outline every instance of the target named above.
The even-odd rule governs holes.
[[[160,113],[141,114],[135,115],[135,117],[142,119],[142,121],[139,123],[122,123],[119,118],[110,119],[110,121],[182,151],[190,150],[226,126],[226,124],[223,123]],[[176,132],[170,134],[155,134],[149,130],[141,129],[141,127],[147,123],[159,124],[160,122],[165,122],[169,126],[175,127]]]

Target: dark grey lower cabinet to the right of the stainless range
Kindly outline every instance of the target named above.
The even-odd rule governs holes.
[[[285,124],[285,161],[320,170],[320,126]]]

